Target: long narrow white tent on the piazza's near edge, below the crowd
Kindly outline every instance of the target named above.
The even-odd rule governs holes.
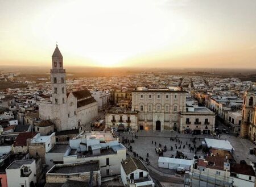
[[[193,164],[194,160],[175,159],[162,156],[160,156],[158,159],[159,168],[177,169],[178,167],[183,167],[185,169],[190,169]]]

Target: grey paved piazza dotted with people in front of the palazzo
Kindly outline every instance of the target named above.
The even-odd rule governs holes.
[[[134,143],[130,143],[130,146],[132,146],[132,149],[134,152],[138,153],[139,156],[143,157],[143,160],[146,159],[147,153],[149,155],[148,159],[150,160],[150,164],[152,167],[158,170],[162,170],[158,168],[158,155],[156,154],[155,148],[159,146],[159,144],[162,144],[162,148],[164,146],[167,146],[167,151],[163,152],[163,156],[165,157],[170,157],[171,155],[176,156],[176,151],[183,152],[185,156],[188,157],[188,159],[193,159],[193,156],[195,155],[195,150],[190,152],[188,148],[188,144],[190,143],[191,146],[193,146],[193,142],[191,141],[191,138],[196,137],[196,147],[199,147],[201,145],[201,142],[204,140],[204,138],[212,138],[213,136],[211,135],[195,135],[192,136],[190,134],[178,134],[177,132],[171,132],[170,131],[164,131],[164,132],[159,132],[159,131],[139,131],[135,133],[138,136],[138,139],[135,139],[134,136],[128,132],[123,132],[120,133],[120,138],[122,139],[122,136],[126,139],[126,137],[131,140],[134,139]],[[180,140],[180,144],[177,141],[172,141],[170,140],[171,136],[173,138],[178,137]],[[226,135],[226,134],[221,134],[222,140],[229,140],[229,142],[232,144],[234,147],[234,159],[237,161],[237,163],[240,162],[240,160],[245,160],[247,164],[250,164],[251,161],[256,161],[256,156],[255,155],[250,155],[249,154],[249,149],[254,148],[255,145],[251,143],[247,139],[242,139],[242,138],[236,138],[233,135]],[[152,144],[153,141],[153,144]],[[156,142],[156,146],[155,146]],[[182,143],[181,143],[182,142]],[[186,145],[186,142],[188,143]],[[175,144],[177,144],[177,149],[175,147]],[[179,149],[179,146],[181,145],[181,148]],[[183,146],[185,145],[185,148]],[[125,144],[126,147],[129,147],[128,144]],[[171,151],[171,146],[174,148]],[[132,152],[128,151],[133,155]],[[202,150],[197,151],[197,156],[204,156],[204,153]]]

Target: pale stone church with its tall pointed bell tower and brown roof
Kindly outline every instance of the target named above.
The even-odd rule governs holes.
[[[63,56],[56,46],[52,55],[50,99],[39,103],[39,117],[50,120],[57,131],[80,128],[98,115],[98,103],[89,90],[67,93]]]

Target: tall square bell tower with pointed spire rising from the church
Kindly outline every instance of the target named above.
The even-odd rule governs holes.
[[[63,56],[57,44],[52,54],[51,87],[53,105],[67,103],[66,71],[63,69]]]

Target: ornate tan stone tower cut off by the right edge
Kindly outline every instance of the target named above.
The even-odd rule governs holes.
[[[255,106],[256,94],[253,90],[253,87],[250,86],[243,95],[243,105],[242,105],[242,123],[240,136],[242,138],[250,138],[255,141],[256,137],[253,137],[252,128],[254,120],[254,106]]]

